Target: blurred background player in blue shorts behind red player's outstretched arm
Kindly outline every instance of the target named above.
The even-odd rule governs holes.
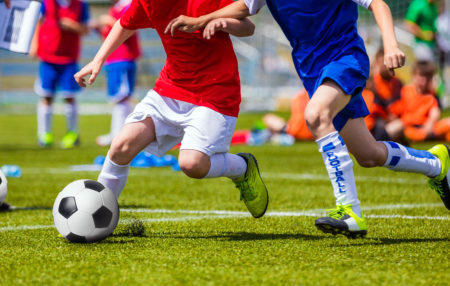
[[[117,19],[130,7],[131,0],[112,0],[109,14],[101,15],[95,28],[106,38]],[[108,134],[98,136],[99,146],[109,146],[112,139],[122,128],[130,114],[130,98],[136,80],[136,60],[141,55],[137,33],[128,38],[106,59],[108,97],[114,104],[111,114],[111,130]]]

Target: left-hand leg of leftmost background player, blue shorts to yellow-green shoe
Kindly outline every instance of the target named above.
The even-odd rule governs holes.
[[[53,97],[56,92],[57,79],[58,73],[54,65],[45,62],[39,64],[39,74],[34,83],[34,90],[40,96],[36,114],[38,143],[42,147],[49,147],[53,144]]]

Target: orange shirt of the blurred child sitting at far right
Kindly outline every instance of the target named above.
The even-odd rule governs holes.
[[[405,126],[423,125],[428,120],[431,109],[439,107],[436,96],[432,93],[419,94],[414,85],[402,88],[401,119]]]

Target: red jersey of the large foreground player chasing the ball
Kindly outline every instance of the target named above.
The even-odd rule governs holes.
[[[241,102],[238,63],[230,37],[217,32],[211,40],[202,32],[164,34],[179,15],[198,17],[233,3],[232,0],[134,0],[120,23],[126,29],[154,28],[167,55],[154,90],[162,96],[211,108],[237,117]]]

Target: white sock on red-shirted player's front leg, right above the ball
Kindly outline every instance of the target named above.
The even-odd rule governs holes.
[[[118,165],[106,155],[102,171],[98,175],[98,181],[108,187],[116,198],[119,198],[127,183],[129,169],[130,165]]]

